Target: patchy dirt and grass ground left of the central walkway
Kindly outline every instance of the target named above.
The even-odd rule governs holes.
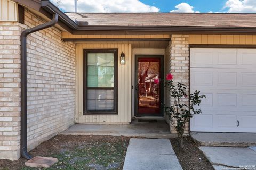
[[[57,135],[29,154],[55,157],[59,162],[47,169],[122,169],[129,137]],[[0,160],[0,170],[32,170],[26,159]]]

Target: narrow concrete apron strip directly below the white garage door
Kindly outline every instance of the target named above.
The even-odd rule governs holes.
[[[191,137],[199,146],[248,147],[256,146],[256,133],[193,132]]]

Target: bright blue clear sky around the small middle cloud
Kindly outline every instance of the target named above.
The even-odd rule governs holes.
[[[256,0],[255,0],[256,1]],[[225,0],[142,0],[141,2],[156,6],[160,9],[160,12],[170,12],[175,9],[175,6],[185,2],[194,7],[194,10],[200,12],[221,12],[227,1]]]

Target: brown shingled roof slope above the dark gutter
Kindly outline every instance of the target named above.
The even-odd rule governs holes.
[[[230,13],[66,13],[93,26],[191,26],[256,28],[256,14]]]

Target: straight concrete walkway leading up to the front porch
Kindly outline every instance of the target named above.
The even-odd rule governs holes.
[[[130,139],[123,170],[182,170],[170,140]]]

